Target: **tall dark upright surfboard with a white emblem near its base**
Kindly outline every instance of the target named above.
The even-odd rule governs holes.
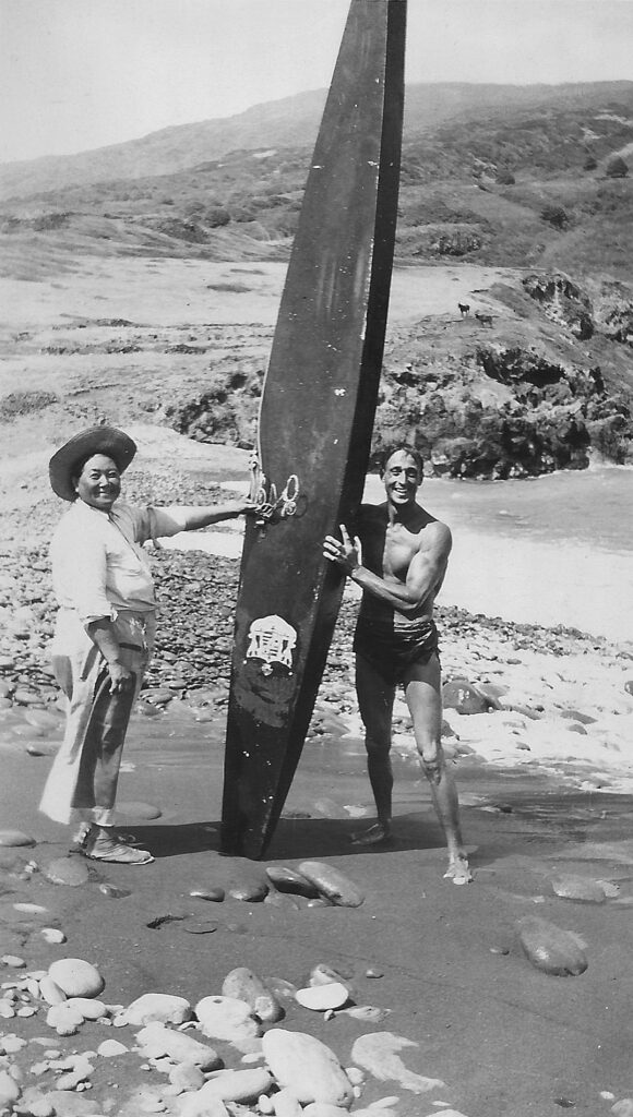
[[[221,843],[264,855],[310,725],[343,582],[322,542],[362,497],[396,232],[406,0],[352,0],[259,412],[237,599]]]

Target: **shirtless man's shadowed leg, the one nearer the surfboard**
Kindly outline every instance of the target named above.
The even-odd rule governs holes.
[[[391,713],[395,688],[362,656],[356,658],[356,691],[367,748],[367,773],[376,802],[378,821],[368,830],[352,836],[358,846],[375,846],[391,836],[391,790],[394,773],[391,748]]]

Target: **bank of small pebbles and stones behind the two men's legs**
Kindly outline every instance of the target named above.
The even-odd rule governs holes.
[[[217,719],[228,696],[239,564],[217,555],[157,548],[152,567],[159,631],[139,713],[153,716],[176,703],[199,719]],[[337,734],[361,732],[351,650],[357,604],[349,588],[311,735],[334,727]],[[63,703],[48,663],[55,609],[47,548],[17,548],[6,555],[0,576],[0,741],[18,736],[31,751],[42,747],[38,736],[59,731],[62,723]],[[560,757],[571,751],[566,742],[575,733],[584,738],[575,742],[576,756],[629,776],[633,646],[615,646],[561,626],[517,624],[447,605],[437,609],[437,619],[450,754],[456,747],[457,753],[474,748],[488,760],[517,763],[526,760],[520,752],[541,760]],[[394,727],[397,743],[412,747],[401,700],[396,704]]]

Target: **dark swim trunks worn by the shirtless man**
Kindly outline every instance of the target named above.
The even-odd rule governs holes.
[[[417,621],[397,620],[380,624],[359,617],[353,650],[382,676],[389,686],[401,682],[413,663],[427,663],[438,650],[435,621],[423,617]]]

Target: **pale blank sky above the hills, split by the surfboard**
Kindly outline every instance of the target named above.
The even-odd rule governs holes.
[[[348,9],[349,0],[0,0],[0,161],[101,147],[324,87]],[[633,0],[409,0],[408,83],[622,78],[633,78]]]

